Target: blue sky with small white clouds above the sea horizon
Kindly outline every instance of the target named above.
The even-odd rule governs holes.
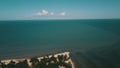
[[[0,20],[113,18],[120,0],[0,0]]]

